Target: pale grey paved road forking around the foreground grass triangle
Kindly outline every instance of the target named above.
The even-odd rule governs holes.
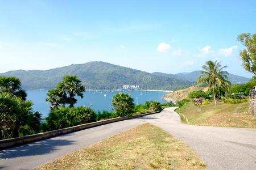
[[[181,124],[175,108],[0,151],[0,169],[32,169],[146,122],[191,146],[210,169],[256,169],[256,129]]]

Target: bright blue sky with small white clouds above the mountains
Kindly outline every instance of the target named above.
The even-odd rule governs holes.
[[[0,73],[104,61],[147,72],[241,66],[243,32],[255,33],[256,1],[0,0]]]

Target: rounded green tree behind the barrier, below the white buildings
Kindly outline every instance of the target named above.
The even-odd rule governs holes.
[[[118,93],[113,96],[112,106],[115,107],[118,116],[128,116],[133,112],[133,101],[129,94]]]

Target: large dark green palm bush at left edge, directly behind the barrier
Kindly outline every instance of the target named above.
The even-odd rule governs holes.
[[[9,93],[0,94],[0,138],[14,138],[38,132],[41,115],[33,113],[32,101]]]

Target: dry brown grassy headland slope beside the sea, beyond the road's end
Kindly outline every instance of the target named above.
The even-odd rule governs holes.
[[[181,90],[177,90],[177,91],[171,92],[169,94],[166,94],[166,95],[164,95],[164,97],[170,98],[174,101],[180,101],[183,99],[188,99],[188,94],[193,91],[197,91],[197,90],[207,91],[208,87],[201,87],[199,85],[189,86],[187,88],[183,88]]]

